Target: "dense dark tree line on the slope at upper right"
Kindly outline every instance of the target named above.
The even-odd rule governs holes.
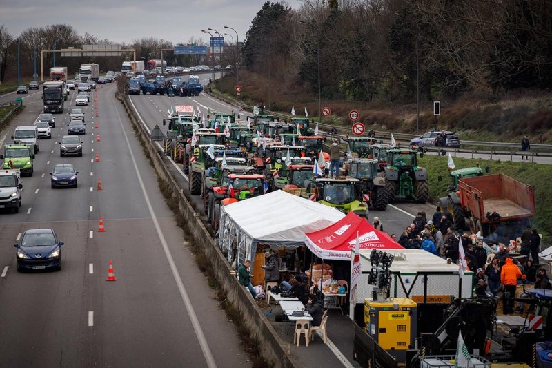
[[[428,100],[552,87],[552,1],[301,2],[264,3],[244,66],[324,99],[412,101],[417,72]]]

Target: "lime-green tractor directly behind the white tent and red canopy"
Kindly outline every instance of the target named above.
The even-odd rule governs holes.
[[[360,180],[354,177],[321,177],[308,184],[301,196],[349,213],[353,211],[368,220],[368,204],[362,199]]]

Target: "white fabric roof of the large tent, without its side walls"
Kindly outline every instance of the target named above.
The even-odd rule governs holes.
[[[345,217],[337,209],[284,191],[259,195],[223,209],[253,242],[286,246],[303,245],[305,233],[324,229]]]

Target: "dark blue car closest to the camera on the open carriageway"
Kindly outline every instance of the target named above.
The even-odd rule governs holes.
[[[17,271],[61,269],[61,246],[52,229],[29,229],[23,233],[17,248]]]

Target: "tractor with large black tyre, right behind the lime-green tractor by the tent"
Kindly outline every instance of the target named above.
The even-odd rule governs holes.
[[[389,202],[389,193],[385,177],[377,173],[377,159],[357,158],[345,164],[348,176],[360,180],[362,197],[371,209],[385,211]]]

